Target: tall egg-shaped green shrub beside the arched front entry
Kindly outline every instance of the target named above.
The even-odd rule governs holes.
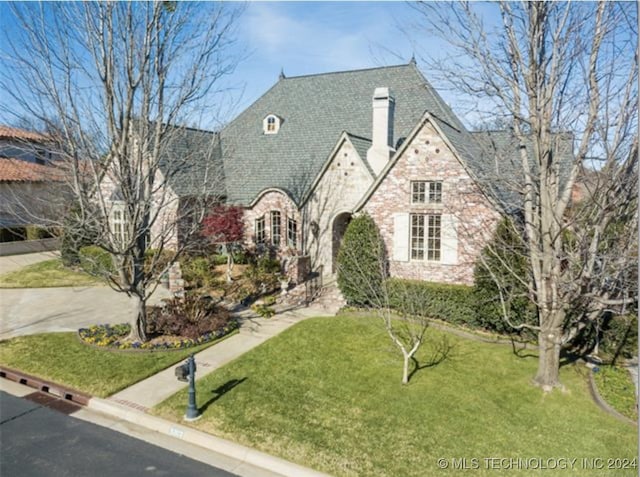
[[[338,287],[349,305],[375,305],[386,277],[384,242],[368,214],[354,218],[338,252]]]

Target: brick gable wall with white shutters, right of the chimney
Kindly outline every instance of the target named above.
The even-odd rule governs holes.
[[[412,204],[412,181],[441,181],[441,203]],[[499,218],[429,122],[411,139],[363,211],[380,229],[389,253],[391,276],[459,284],[473,283],[476,260]],[[441,217],[439,261],[411,258],[411,214]]]

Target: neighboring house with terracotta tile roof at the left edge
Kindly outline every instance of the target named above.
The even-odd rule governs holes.
[[[24,227],[59,219],[56,197],[62,174],[42,134],[0,126],[0,229],[20,239]]]

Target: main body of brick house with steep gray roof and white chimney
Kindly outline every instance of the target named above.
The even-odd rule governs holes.
[[[334,273],[351,217],[367,212],[393,276],[469,284],[500,214],[519,200],[508,183],[518,148],[505,134],[467,131],[411,61],[281,75],[220,131],[208,164],[224,170],[226,201],[244,207],[248,245]],[[177,195],[194,193],[187,177]]]

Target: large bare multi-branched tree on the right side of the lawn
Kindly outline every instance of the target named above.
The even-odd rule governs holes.
[[[510,189],[502,206],[523,238],[530,270],[522,276],[511,269],[511,276],[537,310],[536,324],[517,326],[537,332],[535,383],[550,390],[560,385],[561,349],[604,312],[637,303],[635,5],[415,8],[451,46],[446,60],[430,62],[432,70],[475,100],[476,115],[509,119],[501,138],[474,135],[494,156],[479,180],[498,197]],[[492,246],[488,256],[499,258],[504,244]],[[493,276],[504,303],[501,272]]]

